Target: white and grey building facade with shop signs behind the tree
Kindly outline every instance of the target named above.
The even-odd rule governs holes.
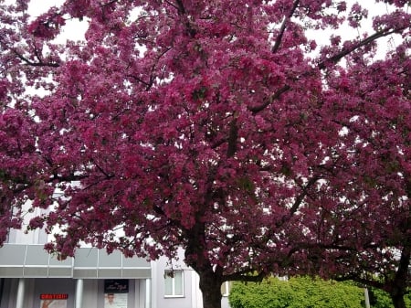
[[[166,259],[86,247],[57,260],[43,249],[46,241],[41,230],[11,231],[0,248],[0,308],[202,307],[198,275],[182,261],[172,268]],[[228,307],[227,296],[222,306]]]

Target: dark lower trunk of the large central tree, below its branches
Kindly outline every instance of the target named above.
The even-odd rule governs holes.
[[[222,281],[213,271],[202,271],[200,275],[200,290],[203,293],[203,308],[221,308]]]

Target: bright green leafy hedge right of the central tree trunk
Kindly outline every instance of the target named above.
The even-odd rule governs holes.
[[[387,293],[374,290],[370,295],[373,308],[393,307]],[[406,303],[411,304],[409,300]],[[270,278],[260,283],[235,282],[229,303],[231,308],[364,308],[364,289],[350,281]]]

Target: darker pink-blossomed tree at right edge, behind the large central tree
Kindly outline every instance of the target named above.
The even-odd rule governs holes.
[[[339,114],[334,119],[344,129],[334,155],[347,160],[332,169],[327,185],[311,192],[317,219],[306,216],[300,253],[308,254],[304,271],[385,290],[395,307],[405,308],[411,284],[411,61],[399,47],[385,61],[355,64],[329,83],[322,105]],[[344,103],[335,104],[337,96]]]

